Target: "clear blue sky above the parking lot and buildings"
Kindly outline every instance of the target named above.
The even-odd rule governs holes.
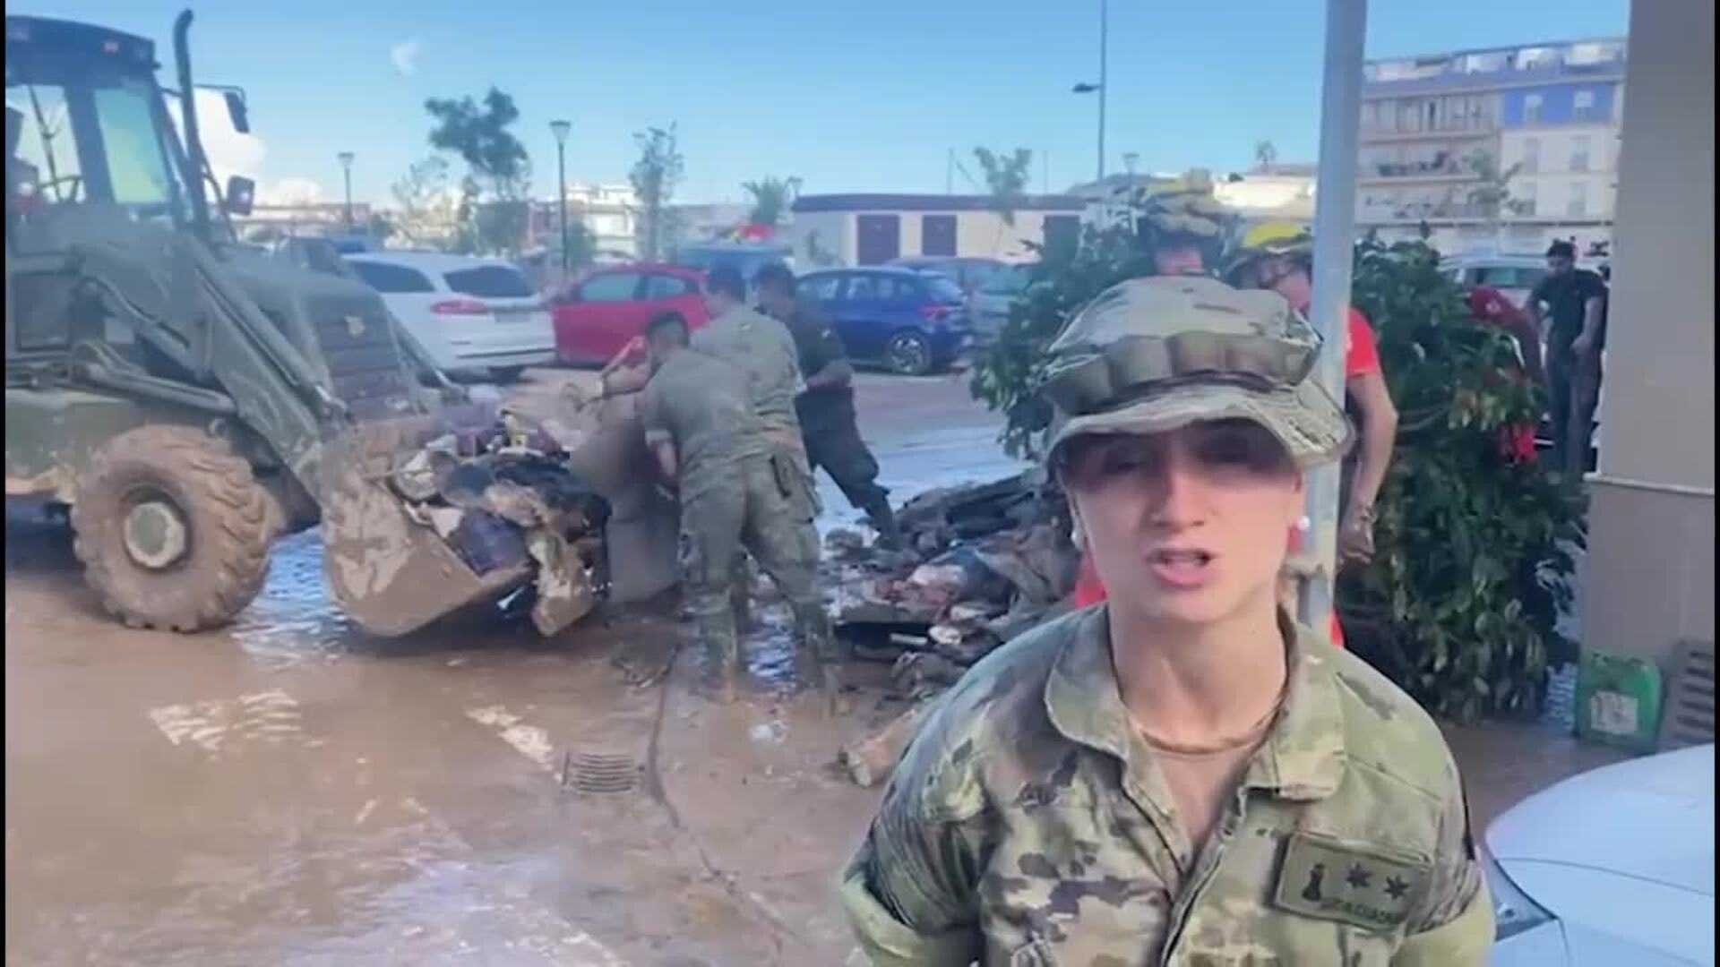
[[[184,0],[38,0],[9,14],[150,36],[169,59]],[[1369,57],[1624,34],[1629,0],[1374,0]],[[549,120],[573,120],[568,174],[624,181],[631,132],[676,122],[679,198],[800,176],[803,191],[943,191],[946,153],[1032,148],[1053,191],[1096,167],[1097,0],[220,0],[196,7],[198,79],[246,88],[263,191],[315,182],[387,201],[430,155],[428,96],[514,95],[533,191],[552,196]],[[1242,169],[1271,139],[1312,160],[1321,0],[1111,0],[1108,167]],[[1047,163],[1046,163],[1047,162]],[[458,167],[458,165],[456,165]],[[1046,170],[1049,169],[1049,170]],[[956,189],[965,186],[956,176]]]

